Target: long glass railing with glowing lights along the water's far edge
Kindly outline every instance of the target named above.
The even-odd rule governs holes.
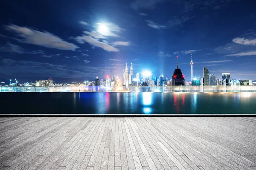
[[[256,92],[256,86],[1,86],[0,92]]]

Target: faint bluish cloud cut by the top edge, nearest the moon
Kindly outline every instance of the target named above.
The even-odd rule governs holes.
[[[134,0],[131,3],[131,8],[138,9],[154,9],[157,3],[164,2],[165,0]]]

